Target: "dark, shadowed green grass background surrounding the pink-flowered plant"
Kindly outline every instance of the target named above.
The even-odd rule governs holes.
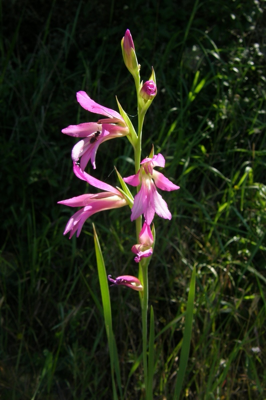
[[[93,249],[135,274],[129,210],[62,235],[88,191],[73,177],[69,124],[92,120],[75,92],[136,121],[120,40],[131,30],[141,73],[158,95],[144,126],[164,173],[173,217],[155,218],[150,303],[156,320],[154,398],[171,399],[191,270],[197,265],[191,357],[182,398],[266,398],[265,2],[256,0],[1,1],[0,398],[111,398],[109,356]],[[96,120],[95,118],[94,120]],[[110,151],[110,145],[112,150]],[[126,138],[101,145],[94,176],[133,172]],[[90,168],[90,167],[89,167]],[[88,169],[89,171],[89,169]],[[160,250],[159,250],[160,249]],[[140,354],[138,296],[111,290],[123,385]],[[126,399],[141,398],[142,367]]]

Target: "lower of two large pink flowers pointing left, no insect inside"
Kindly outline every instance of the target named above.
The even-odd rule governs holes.
[[[111,208],[119,208],[128,204],[126,198],[115,187],[92,177],[86,172],[82,172],[80,167],[75,163],[73,170],[76,176],[80,179],[87,181],[92,186],[106,191],[95,194],[81,194],[77,197],[58,201],[59,204],[69,205],[70,207],[82,207],[71,216],[66,224],[64,234],[70,232],[69,238],[71,238],[76,231],[78,237],[85,220],[95,214],[95,212]]]

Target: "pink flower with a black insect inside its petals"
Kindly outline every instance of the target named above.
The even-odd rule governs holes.
[[[101,143],[114,137],[125,136],[129,133],[129,128],[123,117],[113,109],[104,107],[93,101],[85,91],[77,92],[77,101],[88,111],[96,114],[108,116],[99,119],[98,122],[84,122],[78,125],[69,125],[62,129],[62,132],[74,137],[84,137],[77,142],[72,149],[73,161],[80,159],[80,167],[85,169],[89,160],[96,168],[96,151]]]

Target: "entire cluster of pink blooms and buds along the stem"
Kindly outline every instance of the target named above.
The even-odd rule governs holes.
[[[140,82],[140,65],[138,64],[135,46],[128,29],[122,39],[122,53],[125,64],[136,82],[138,107],[143,121],[145,112],[157,94],[155,73],[152,68],[150,79],[144,83]],[[129,205],[131,207],[131,221],[141,218],[142,215],[144,217],[142,228],[139,228],[138,243],[132,246],[132,251],[136,254],[135,261],[141,262],[143,258],[151,257],[153,252],[154,227],[151,229],[151,224],[155,213],[166,219],[171,219],[172,217],[167,203],[161,194],[158,193],[157,188],[171,191],[179,189],[179,186],[154,169],[155,167],[164,167],[165,158],[160,153],[154,155],[153,149],[149,157],[144,158],[140,164],[137,164],[136,170],[137,168],[139,170],[136,174],[124,177],[123,180],[121,178],[120,182],[123,189],[115,188],[85,172],[89,160],[93,168],[96,168],[95,157],[101,143],[116,137],[127,136],[136,151],[137,147],[141,148],[140,145],[136,146],[138,140],[141,140],[141,134],[136,134],[128,115],[123,111],[119,103],[118,106],[122,115],[113,109],[96,103],[85,91],[78,91],[76,97],[84,109],[106,116],[106,118],[98,119],[97,122],[83,122],[78,125],[69,125],[62,129],[62,132],[67,135],[82,138],[72,149],[73,171],[75,175],[91,186],[103,191],[81,194],[58,201],[59,204],[65,204],[70,207],[81,207],[67,222],[64,234],[70,232],[69,238],[71,238],[76,232],[76,235],[79,236],[84,222],[94,213]],[[137,194],[134,198],[126,183],[137,187]],[[141,224],[139,226],[141,227]],[[116,285],[122,284],[134,290],[143,290],[140,280],[131,275],[123,275],[115,279],[109,275],[108,279]]]

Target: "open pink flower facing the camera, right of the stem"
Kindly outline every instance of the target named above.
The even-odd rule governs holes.
[[[146,223],[151,224],[154,214],[162,218],[171,219],[172,215],[167,207],[167,203],[158,193],[156,186],[162,190],[177,190],[179,186],[172,183],[161,172],[154,170],[155,166],[164,166],[165,159],[162,154],[154,155],[152,158],[144,158],[141,167],[135,175],[124,178],[126,183],[132,186],[141,184],[140,191],[135,195],[133,207],[131,209],[131,220],[144,215]]]

